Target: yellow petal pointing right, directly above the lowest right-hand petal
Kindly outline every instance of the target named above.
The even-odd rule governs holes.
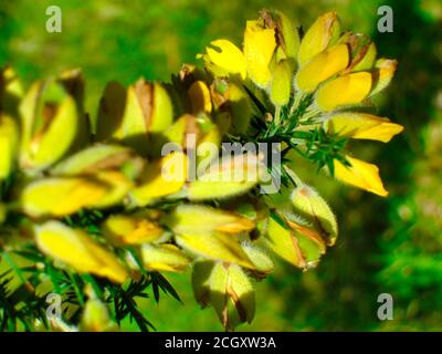
[[[403,126],[388,118],[366,113],[338,113],[326,123],[327,132],[355,139],[371,139],[383,143],[403,131]]]

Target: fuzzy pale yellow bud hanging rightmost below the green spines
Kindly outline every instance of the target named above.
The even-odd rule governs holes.
[[[296,187],[291,196],[294,211],[313,222],[316,230],[333,246],[338,236],[338,225],[327,202],[306,185]]]

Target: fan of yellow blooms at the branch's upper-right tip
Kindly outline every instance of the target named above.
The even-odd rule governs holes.
[[[397,62],[377,59],[375,43],[362,34],[341,34],[334,12],[319,17],[299,39],[283,13],[263,11],[259,20],[248,21],[242,50],[225,39],[210,44],[199,55],[206,69],[217,77],[263,88],[276,112],[291,95],[311,95],[317,121],[330,134],[387,143],[403,129],[358,111],[390,83]],[[335,160],[337,179],[387,196],[375,165],[347,159],[350,166]]]

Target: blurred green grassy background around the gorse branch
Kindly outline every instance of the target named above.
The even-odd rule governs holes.
[[[60,6],[62,33],[48,33],[45,10]],[[377,9],[393,9],[394,32],[379,33]],[[95,114],[109,80],[140,75],[168,81],[181,63],[217,38],[241,43],[244,21],[262,8],[308,27],[335,10],[344,29],[369,34],[380,55],[399,61],[379,114],[406,126],[388,146],[354,144],[375,162],[387,199],[346,188],[308,166],[299,174],[318,186],[340,221],[340,238],[317,269],[302,273],[282,262],[256,283],[257,311],[242,331],[442,330],[442,2],[440,0],[14,0],[0,2],[0,64],[29,84],[82,67],[86,107]],[[301,165],[302,166],[302,165]],[[190,274],[169,275],[183,304],[164,296],[144,303],[159,331],[221,331],[212,310],[200,311]],[[377,298],[390,293],[394,320],[379,321]],[[128,325],[128,330],[134,329]]]

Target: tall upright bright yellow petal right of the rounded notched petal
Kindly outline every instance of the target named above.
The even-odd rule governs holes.
[[[249,77],[260,87],[272,79],[270,63],[276,49],[275,30],[264,29],[259,21],[248,21],[244,32],[244,55]]]

